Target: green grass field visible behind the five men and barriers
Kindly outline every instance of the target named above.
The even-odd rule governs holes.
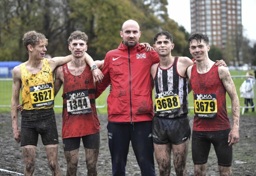
[[[247,71],[230,71],[231,76],[236,76],[236,75],[246,75]],[[253,73],[253,71],[251,71]],[[241,86],[241,84],[243,83],[243,81],[245,80],[245,78],[233,78],[233,81],[235,83],[236,86],[236,90],[239,96],[239,101],[240,101],[240,106],[244,106],[244,99],[240,98],[240,92],[239,92],[239,88]],[[11,105],[11,96],[12,96],[12,81],[0,81],[0,105]],[[55,106],[62,106],[62,89],[59,91],[59,93],[57,94],[57,96],[55,97]],[[97,106],[102,106],[104,105],[105,101],[106,101],[106,95],[105,92],[96,100],[96,105]],[[153,98],[154,98],[154,92],[153,92]],[[193,107],[193,94],[192,92],[190,92],[190,94],[188,95],[188,100],[189,100],[189,107]],[[227,106],[230,107],[231,106],[231,100],[228,96],[228,94],[226,94],[226,100],[227,100]],[[20,102],[21,102],[21,95],[20,95]],[[155,103],[155,102],[154,102]],[[56,113],[62,113],[62,108],[54,108]],[[0,113],[9,113],[10,112],[10,108],[3,108],[0,107]],[[97,112],[99,114],[107,114],[107,106],[105,106],[104,108],[98,108]],[[193,115],[194,111],[193,109],[190,109],[189,111],[189,115]],[[228,113],[231,114],[231,109],[228,109]]]

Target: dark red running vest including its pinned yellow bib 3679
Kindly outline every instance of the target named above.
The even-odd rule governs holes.
[[[220,131],[230,129],[226,109],[226,89],[215,64],[204,74],[192,66],[190,83],[194,95],[194,131]]]

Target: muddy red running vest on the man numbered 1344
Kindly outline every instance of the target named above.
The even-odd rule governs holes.
[[[99,132],[100,122],[95,108],[95,88],[89,66],[86,65],[84,71],[78,76],[69,72],[67,64],[64,64],[62,69],[64,73],[62,138]],[[71,111],[70,114],[68,109]]]

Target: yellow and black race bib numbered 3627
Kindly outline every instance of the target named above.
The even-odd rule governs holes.
[[[33,108],[54,104],[52,83],[31,86],[29,91]]]

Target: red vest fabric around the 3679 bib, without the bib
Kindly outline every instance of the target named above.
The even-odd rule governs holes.
[[[217,116],[214,118],[199,118],[195,116],[193,131],[220,131],[230,129],[226,109],[226,89],[220,80],[218,66],[214,64],[212,68],[204,74],[198,73],[196,68],[197,64],[194,64],[190,77],[193,94],[216,94]]]

